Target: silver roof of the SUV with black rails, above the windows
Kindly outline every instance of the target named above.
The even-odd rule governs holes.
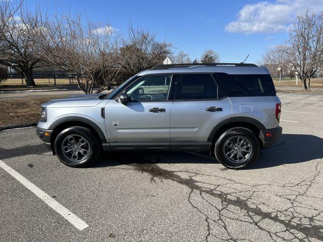
[[[158,65],[152,69],[138,73],[138,76],[159,73],[213,73],[222,72],[227,74],[270,74],[265,67],[258,67],[254,64],[198,64],[198,65]]]

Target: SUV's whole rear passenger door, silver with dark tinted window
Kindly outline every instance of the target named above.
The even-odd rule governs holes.
[[[177,75],[171,116],[171,148],[208,150],[212,129],[231,118],[231,102],[211,73]]]

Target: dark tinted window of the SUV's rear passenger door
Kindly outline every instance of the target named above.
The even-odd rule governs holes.
[[[224,92],[211,74],[182,74],[178,75],[175,99],[219,99]]]

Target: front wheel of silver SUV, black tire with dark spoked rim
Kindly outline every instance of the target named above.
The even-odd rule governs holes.
[[[90,129],[81,126],[69,127],[60,132],[55,139],[54,148],[57,157],[71,167],[87,167],[97,160],[101,152],[101,145],[96,135]],[[73,159],[76,157],[76,160]]]

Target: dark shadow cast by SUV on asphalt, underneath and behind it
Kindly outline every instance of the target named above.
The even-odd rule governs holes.
[[[190,152],[106,152],[92,168],[125,164],[211,164],[209,154]],[[246,169],[263,169],[285,164],[295,164],[323,158],[323,139],[308,134],[283,134],[280,140],[260,151],[257,161]]]

